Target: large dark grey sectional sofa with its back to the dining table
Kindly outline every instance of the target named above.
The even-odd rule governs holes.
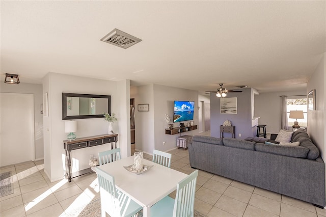
[[[325,206],[325,168],[318,148],[298,130],[281,146],[195,135],[188,146],[192,168]]]

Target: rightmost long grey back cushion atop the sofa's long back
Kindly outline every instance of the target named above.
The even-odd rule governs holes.
[[[302,146],[265,145],[262,143],[257,143],[255,146],[255,150],[300,158],[307,158],[307,154],[309,152],[308,148]]]

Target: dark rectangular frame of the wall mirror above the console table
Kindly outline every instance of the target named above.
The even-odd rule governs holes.
[[[87,98],[104,98],[107,99],[107,112],[111,114],[111,96],[110,95],[94,95],[79,93],[62,93],[62,120],[85,119],[85,118],[104,118],[101,115],[74,115],[67,116],[67,97],[87,97]]]

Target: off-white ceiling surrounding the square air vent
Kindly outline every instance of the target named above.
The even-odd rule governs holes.
[[[303,90],[326,51],[325,1],[1,1],[1,79],[48,72],[209,91]],[[142,39],[128,49],[113,29]]]

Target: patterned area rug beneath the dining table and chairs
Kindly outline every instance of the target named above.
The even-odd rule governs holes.
[[[87,204],[84,207],[80,207],[75,209],[74,211],[67,214],[69,217],[100,217],[101,216],[101,202],[100,199],[96,199],[91,203]],[[143,217],[143,210],[137,213],[138,217]],[[110,215],[106,214],[106,216],[110,217]],[[195,210],[194,217],[205,217],[202,213]]]

